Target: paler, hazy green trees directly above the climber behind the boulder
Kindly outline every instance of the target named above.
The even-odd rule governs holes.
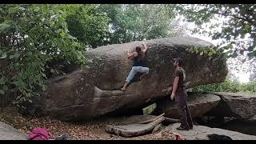
[[[170,37],[174,27],[164,5],[100,5],[98,10],[110,18],[110,30],[104,44]]]

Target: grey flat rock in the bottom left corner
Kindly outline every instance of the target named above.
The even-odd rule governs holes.
[[[0,122],[0,140],[27,140],[27,134],[24,134],[14,127]]]

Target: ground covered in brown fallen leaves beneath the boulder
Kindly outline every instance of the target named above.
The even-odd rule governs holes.
[[[62,122],[50,117],[32,118],[18,114],[14,108],[7,107],[0,111],[0,121],[29,134],[37,127],[45,127],[50,130],[53,138],[67,134],[71,140],[174,140],[175,136],[170,132],[170,127],[165,126],[158,133],[146,134],[134,138],[123,138],[105,132],[106,125],[122,125],[127,123],[128,117],[98,118],[91,122]]]

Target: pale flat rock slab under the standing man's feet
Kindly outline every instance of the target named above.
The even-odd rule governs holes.
[[[176,130],[178,126],[180,126],[179,123],[171,125],[171,132],[181,134],[186,140],[209,140],[207,134],[226,135],[233,140],[256,140],[256,136],[254,135],[242,134],[231,130],[210,128],[207,126],[194,126],[193,130]]]

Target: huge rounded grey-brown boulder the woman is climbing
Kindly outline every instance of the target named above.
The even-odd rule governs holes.
[[[160,38],[146,41],[149,76],[122,91],[132,67],[126,49],[134,50],[135,46],[142,46],[142,42],[88,50],[86,58],[90,60],[86,68],[50,80],[41,106],[43,114],[75,120],[138,108],[170,92],[173,58],[183,58],[188,88],[222,82],[226,78],[226,59],[220,56],[209,59],[186,51],[193,46],[212,46],[210,42],[198,38]]]

